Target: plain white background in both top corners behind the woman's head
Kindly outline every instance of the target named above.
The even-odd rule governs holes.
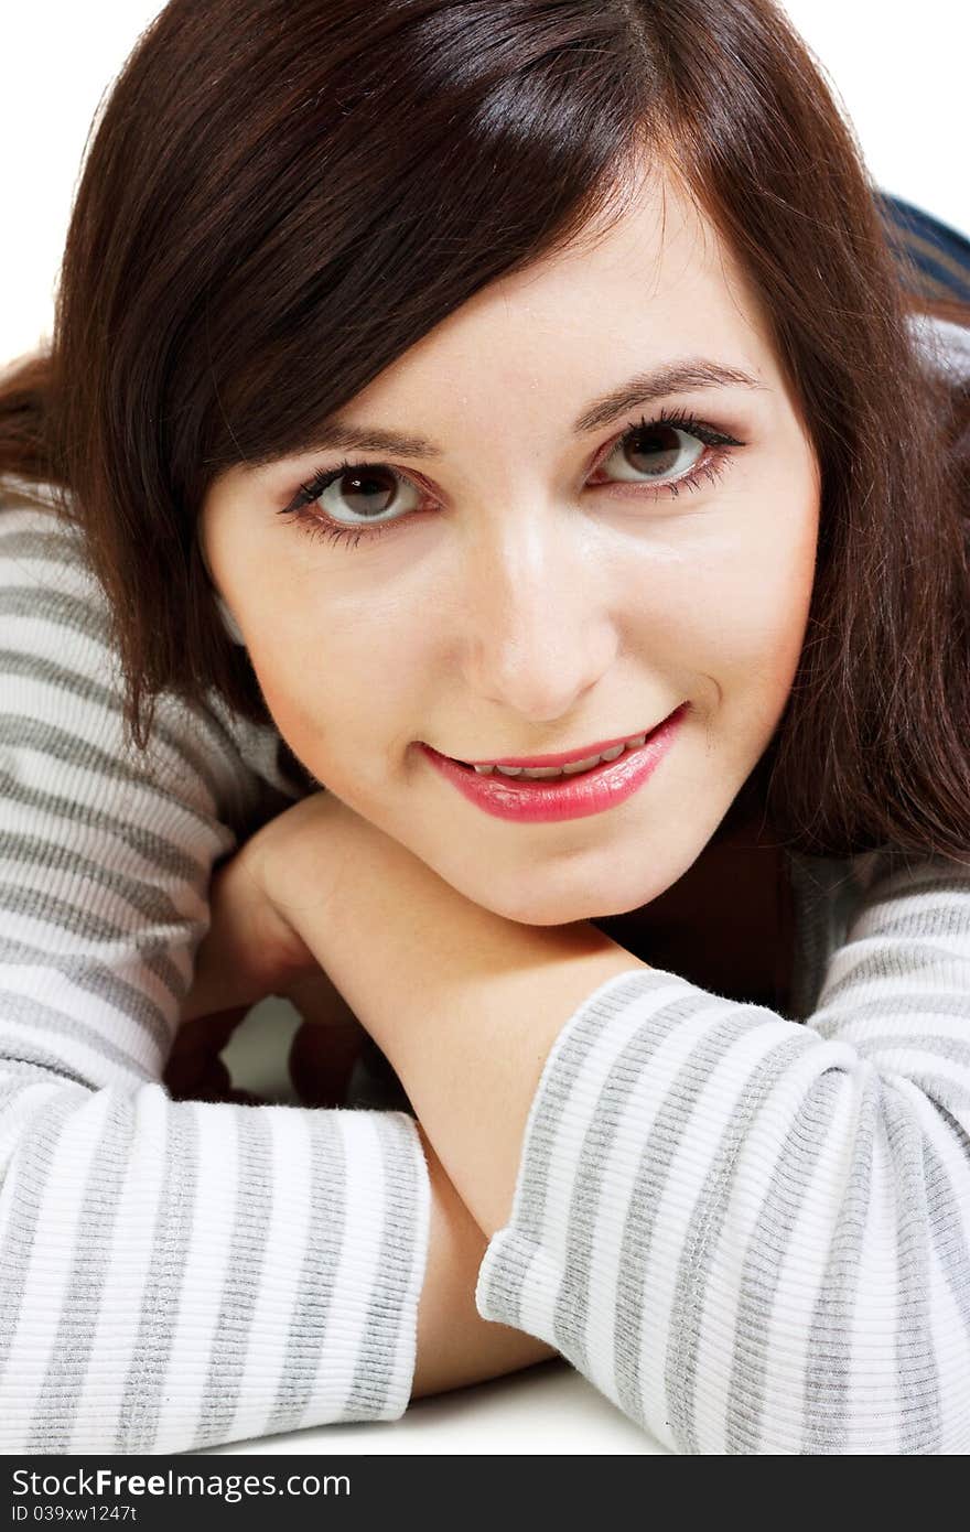
[[[8,0],[0,20],[0,366],[49,336],[84,142],[158,0]],[[970,231],[965,0],[788,0],[877,184]]]

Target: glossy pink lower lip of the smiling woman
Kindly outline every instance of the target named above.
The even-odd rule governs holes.
[[[451,755],[441,755],[431,745],[421,743],[421,749],[469,803],[475,803],[498,820],[519,820],[527,824],[581,820],[587,813],[614,809],[644,786],[674,743],[688,706],[687,702],[680,703],[634,751],[624,751],[614,761],[601,761],[592,771],[576,772],[575,777],[536,780],[503,777],[498,772],[483,777],[470,766],[460,766]]]

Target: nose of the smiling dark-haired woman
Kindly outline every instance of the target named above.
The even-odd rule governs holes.
[[[535,723],[569,715],[613,663],[616,613],[588,538],[555,506],[504,507],[464,548],[469,686]]]

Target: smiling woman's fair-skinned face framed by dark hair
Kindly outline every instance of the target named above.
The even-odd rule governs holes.
[[[645,187],[599,242],[478,293],[333,424],[336,447],[234,467],[202,509],[296,757],[509,919],[657,898],[775,729],[818,530],[809,440],[713,225],[673,184]],[[421,443],[375,449],[377,432]],[[279,515],[342,461],[369,472],[337,475],[303,524]],[[351,536],[320,535],[328,518]],[[489,812],[421,749],[588,755],[677,708],[653,774],[567,818]]]

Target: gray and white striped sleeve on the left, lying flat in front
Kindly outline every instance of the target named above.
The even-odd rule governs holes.
[[[259,783],[173,699],[123,754],[106,613],[48,510],[0,513],[0,1449],[397,1419],[429,1223],[412,1118],[161,1083]]]

